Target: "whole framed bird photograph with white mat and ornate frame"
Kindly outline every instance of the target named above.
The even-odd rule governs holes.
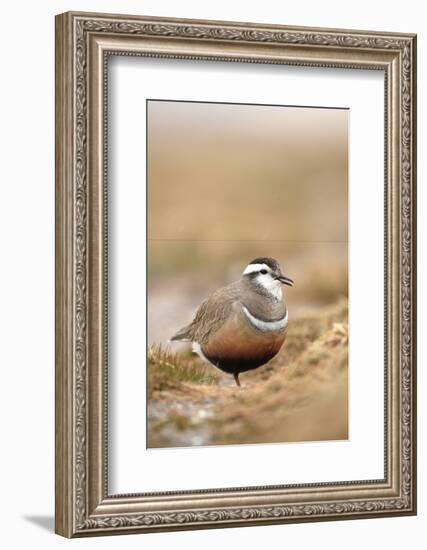
[[[56,532],[416,513],[416,37],[56,18]]]

